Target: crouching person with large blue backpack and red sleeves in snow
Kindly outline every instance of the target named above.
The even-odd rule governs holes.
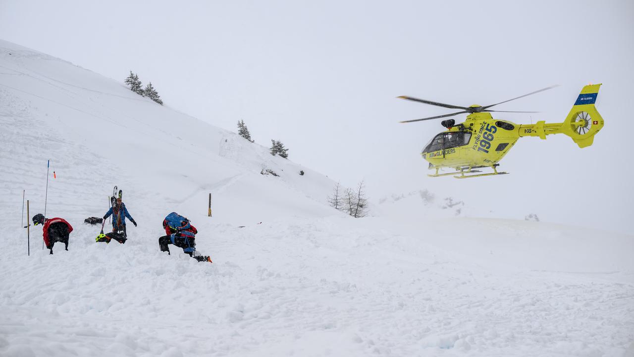
[[[169,244],[183,248],[183,252],[195,258],[199,262],[211,262],[207,255],[198,255],[196,252],[196,234],[198,230],[191,226],[190,220],[176,212],[169,213],[163,220],[163,228],[167,236],[159,238],[161,252],[169,252]]]

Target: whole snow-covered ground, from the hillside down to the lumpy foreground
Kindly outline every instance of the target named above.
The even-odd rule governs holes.
[[[351,219],[320,173],[3,41],[0,126],[0,356],[634,353],[632,236],[456,217],[420,194]],[[27,257],[22,190],[42,212],[48,159],[47,215],[75,230],[48,255],[32,227]],[[96,244],[82,222],[113,185],[139,226]],[[159,252],[172,211],[214,264]]]

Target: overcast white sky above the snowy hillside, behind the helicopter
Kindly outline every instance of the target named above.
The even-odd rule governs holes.
[[[427,188],[501,217],[629,232],[632,18],[633,1],[0,0],[0,38],[120,82],[137,72],[165,105],[232,131],[243,119],[257,143],[365,179],[375,199]],[[496,117],[560,122],[588,83],[604,83],[594,145],[521,139],[502,177],[426,177],[420,149],[443,128],[398,123],[449,112],[398,95],[486,105],[551,84],[499,107],[541,114]]]

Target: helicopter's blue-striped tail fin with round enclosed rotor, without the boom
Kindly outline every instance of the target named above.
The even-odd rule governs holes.
[[[583,87],[562,125],[561,132],[571,137],[579,147],[592,145],[595,134],[604,126],[604,120],[595,107],[600,86],[588,84]]]

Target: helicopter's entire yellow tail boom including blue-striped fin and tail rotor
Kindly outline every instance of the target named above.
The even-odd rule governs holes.
[[[533,125],[520,125],[519,136],[545,139],[546,135],[564,133],[579,147],[592,145],[595,134],[604,126],[604,120],[595,107],[600,86],[588,84],[583,87],[564,123],[538,121]]]

